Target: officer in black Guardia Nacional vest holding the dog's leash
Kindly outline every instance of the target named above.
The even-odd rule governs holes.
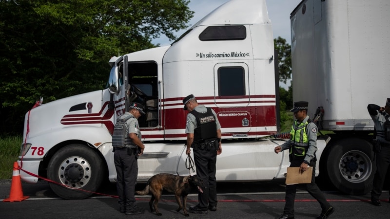
[[[222,153],[221,125],[211,108],[199,105],[194,95],[183,99],[184,110],[188,110],[186,133],[187,151],[194,150],[196,175],[203,180],[205,188],[198,193],[198,204],[190,207],[192,213],[207,214],[216,211],[216,156]]]

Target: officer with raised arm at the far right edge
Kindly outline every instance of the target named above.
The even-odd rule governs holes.
[[[373,141],[376,172],[372,183],[371,203],[381,206],[379,196],[382,194],[383,183],[390,164],[390,98],[387,98],[385,107],[369,104],[367,109],[374,121],[376,132]]]

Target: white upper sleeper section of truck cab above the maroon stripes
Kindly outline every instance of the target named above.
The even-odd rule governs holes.
[[[208,26],[225,25],[244,26],[246,38],[230,41],[199,39]],[[247,80],[261,81],[261,84],[267,85],[248,81],[247,95],[275,95],[273,53],[273,32],[265,0],[229,1],[197,22],[191,32],[173,43],[166,52],[163,81],[170,91],[164,93],[164,97],[174,98],[188,93],[210,98],[217,96],[213,92],[213,88],[218,87],[215,84],[217,78],[213,75],[217,74],[218,67],[227,66],[227,63],[242,65],[249,71]],[[233,54],[238,56],[234,57]]]

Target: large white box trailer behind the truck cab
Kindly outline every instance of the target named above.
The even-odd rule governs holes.
[[[322,106],[325,129],[373,128],[367,105],[390,96],[389,11],[388,0],[304,0],[292,12],[293,100],[310,116]]]

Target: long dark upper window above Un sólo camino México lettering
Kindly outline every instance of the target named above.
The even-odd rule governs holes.
[[[210,26],[207,27],[200,35],[202,41],[209,40],[242,40],[247,37],[245,26]]]

